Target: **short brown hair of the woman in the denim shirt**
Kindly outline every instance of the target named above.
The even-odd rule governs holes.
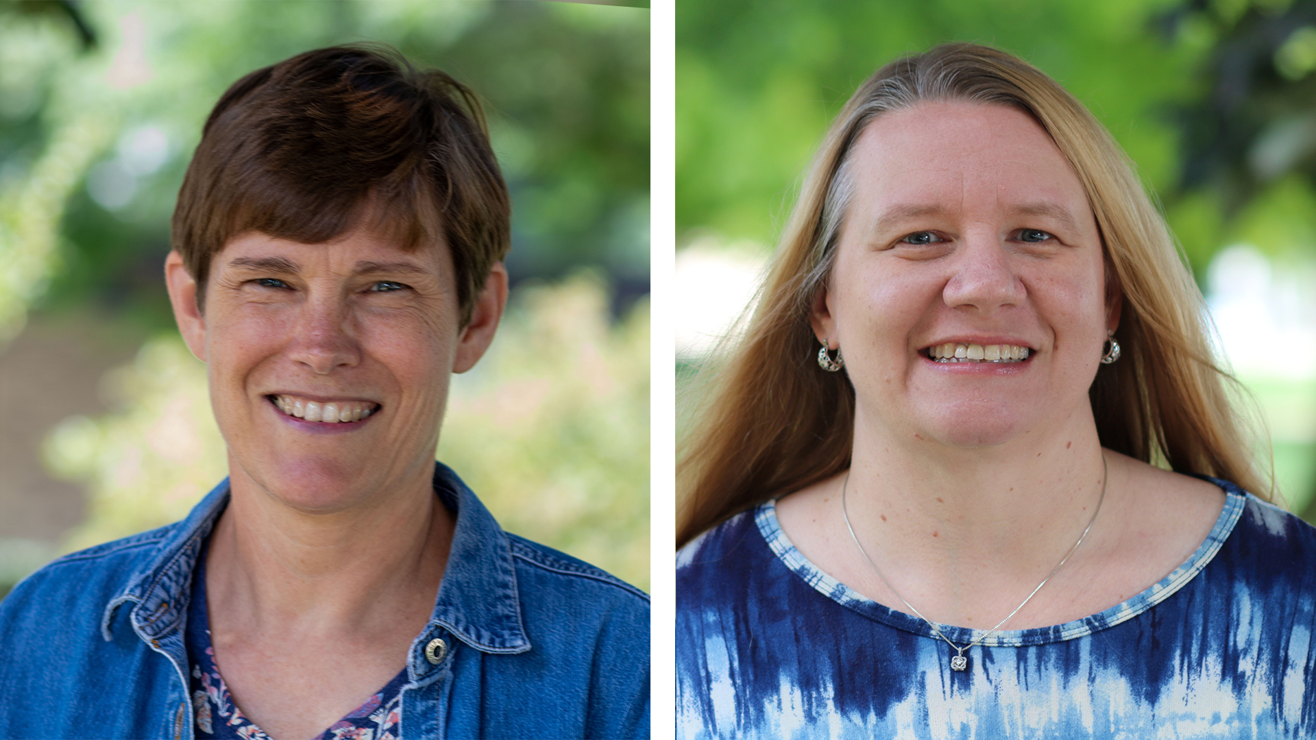
[[[475,93],[386,47],[333,46],[257,70],[205,121],[172,242],[204,307],[211,259],[261,232],[320,244],[362,225],[404,250],[446,241],[462,325],[511,244],[512,207]]]

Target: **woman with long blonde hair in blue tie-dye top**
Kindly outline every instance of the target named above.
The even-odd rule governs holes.
[[[1316,529],[1203,316],[1059,84],[975,45],[878,70],[700,381],[678,733],[1316,733]]]

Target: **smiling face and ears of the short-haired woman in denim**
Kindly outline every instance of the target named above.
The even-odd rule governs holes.
[[[407,253],[365,230],[316,245],[230,240],[204,315],[176,253],[166,277],[209,366],[234,490],[254,485],[307,512],[428,486],[449,374],[483,354],[507,296],[499,265],[461,327],[447,248]]]

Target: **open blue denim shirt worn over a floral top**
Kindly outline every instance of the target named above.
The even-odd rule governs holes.
[[[434,491],[457,528],[400,736],[647,737],[649,598],[503,532],[441,463]],[[192,737],[190,587],[228,500],[224,481],[183,521],[64,556],[0,602],[0,737]]]

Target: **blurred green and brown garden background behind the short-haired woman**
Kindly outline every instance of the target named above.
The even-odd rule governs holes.
[[[232,82],[354,41],[476,90],[512,191],[509,311],[438,457],[507,529],[647,589],[649,11],[613,5],[0,3],[0,594],[226,473],[162,282],[174,198]]]

